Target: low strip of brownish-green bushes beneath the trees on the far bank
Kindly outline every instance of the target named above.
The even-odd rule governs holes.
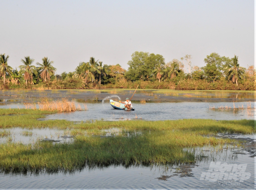
[[[99,84],[99,83],[84,83],[82,80],[69,79],[69,80],[52,80],[41,82],[38,84],[13,84],[11,82],[0,85],[0,89],[131,89],[136,88],[139,85],[139,89],[178,89],[178,90],[256,90],[256,83],[254,81],[246,80],[241,81],[236,86],[228,80],[218,80],[208,82],[207,80],[180,80],[177,82],[172,81],[117,81],[116,83]]]

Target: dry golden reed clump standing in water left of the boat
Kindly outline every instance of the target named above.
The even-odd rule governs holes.
[[[38,105],[38,107],[37,107]],[[88,110],[86,104],[84,104],[84,109],[81,108],[80,104],[75,104],[75,102],[70,102],[66,98],[57,101],[49,101],[48,99],[42,100],[36,104],[26,103],[26,109],[39,109],[43,111],[56,111],[56,112],[75,112]]]

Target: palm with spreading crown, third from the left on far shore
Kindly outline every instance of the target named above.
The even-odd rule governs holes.
[[[54,72],[57,70],[52,66],[53,61],[50,61],[48,57],[44,57],[43,59],[43,64],[38,63],[39,65],[38,69],[40,69],[40,76],[46,81],[46,79],[50,79],[50,76],[54,74]]]

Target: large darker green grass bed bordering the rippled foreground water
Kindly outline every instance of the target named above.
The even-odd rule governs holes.
[[[229,139],[191,137],[177,138],[178,133],[149,131],[140,136],[108,137],[77,136],[74,143],[53,144],[36,142],[34,145],[9,142],[0,145],[2,172],[58,172],[81,170],[83,167],[114,165],[181,164],[193,163],[195,155],[183,147],[232,142]],[[192,145],[190,143],[194,142]]]

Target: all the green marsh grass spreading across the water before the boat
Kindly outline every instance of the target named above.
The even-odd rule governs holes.
[[[255,133],[254,120],[215,121],[183,119],[175,121],[40,121],[45,111],[9,110],[2,114],[0,128],[59,128],[76,136],[73,143],[37,141],[24,145],[11,140],[0,144],[2,172],[58,172],[112,164],[125,167],[143,164],[193,163],[197,157],[184,148],[224,145],[237,142],[212,137],[216,133]],[[23,113],[21,112],[23,111]],[[33,113],[34,111],[35,113]],[[4,110],[0,109],[0,113]],[[41,112],[41,113],[40,113]],[[51,112],[52,113],[52,112]],[[106,129],[118,129],[110,137]],[[111,130],[110,130],[111,131]],[[112,133],[111,133],[112,134]]]

